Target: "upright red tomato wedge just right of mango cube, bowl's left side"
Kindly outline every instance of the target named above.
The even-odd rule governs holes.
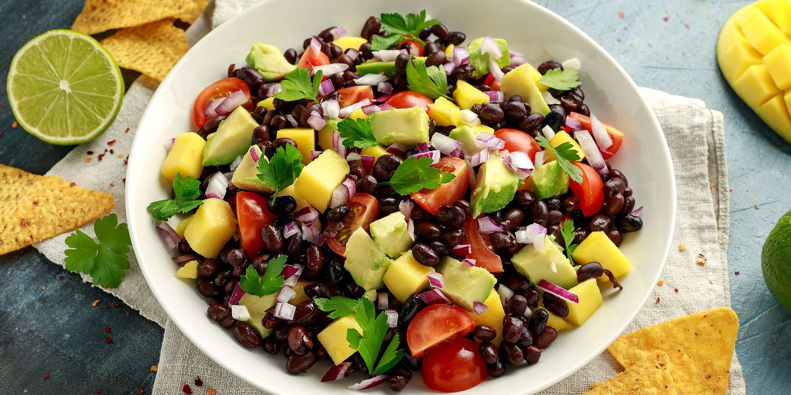
[[[272,224],[277,217],[267,209],[267,198],[253,192],[237,194],[237,220],[239,234],[242,237],[242,248],[248,255],[255,257],[263,248],[261,227]]]

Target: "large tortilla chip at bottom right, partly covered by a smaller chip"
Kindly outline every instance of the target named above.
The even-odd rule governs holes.
[[[686,315],[623,335],[609,351],[623,367],[661,350],[670,355],[670,373],[679,393],[724,394],[739,318],[729,307]]]

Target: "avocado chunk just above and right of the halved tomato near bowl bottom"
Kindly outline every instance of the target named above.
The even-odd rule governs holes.
[[[451,257],[442,258],[437,272],[445,278],[442,293],[467,311],[473,310],[475,301],[483,303],[497,283],[497,279],[486,269],[467,265]]]

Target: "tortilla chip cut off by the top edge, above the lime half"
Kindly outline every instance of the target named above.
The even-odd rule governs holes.
[[[206,7],[204,2],[205,0],[86,0],[71,29],[95,34],[164,18],[192,18],[188,21],[191,22]],[[204,3],[202,7],[201,3]]]

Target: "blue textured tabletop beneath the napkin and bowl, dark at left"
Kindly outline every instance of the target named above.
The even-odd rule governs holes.
[[[763,284],[760,250],[778,218],[791,208],[786,173],[791,145],[772,132],[732,92],[717,69],[719,27],[746,1],[540,0],[598,41],[638,85],[698,97],[725,115],[731,195],[732,304],[742,327],[736,352],[747,393],[791,388],[791,315]],[[74,20],[81,1],[0,2],[0,75],[30,37]],[[53,12],[57,10],[57,12]],[[623,12],[624,18],[619,17]],[[25,17],[23,17],[23,14]],[[437,16],[441,17],[441,16]],[[663,18],[668,17],[668,21]],[[689,24],[685,27],[684,24]],[[452,27],[460,28],[460,27]],[[551,34],[551,33],[549,33]],[[0,85],[5,98],[5,83]],[[0,100],[0,101],[5,101]],[[0,163],[44,173],[70,148],[44,144],[11,130],[13,116],[0,110]],[[736,276],[735,272],[740,272]],[[64,276],[64,280],[58,280]],[[47,286],[45,291],[42,286]],[[90,307],[95,299],[101,302]],[[0,258],[0,393],[150,392],[162,330],[108,294],[52,265],[32,248]],[[112,334],[102,329],[112,327]],[[66,336],[68,335],[68,336]],[[105,344],[112,336],[114,343]],[[44,374],[51,378],[44,381]],[[779,389],[779,390],[778,390]],[[135,392],[136,393],[136,392]]]

